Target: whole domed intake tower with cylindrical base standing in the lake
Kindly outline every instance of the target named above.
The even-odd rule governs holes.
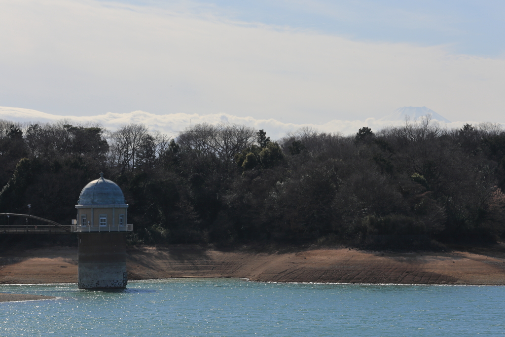
[[[123,191],[113,181],[100,178],[81,191],[77,219],[72,232],[78,233],[78,286],[80,289],[124,288],[128,205]]]

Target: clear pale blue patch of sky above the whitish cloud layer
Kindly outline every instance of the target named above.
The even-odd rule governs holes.
[[[243,22],[312,29],[360,41],[449,45],[454,53],[496,57],[505,52],[505,1],[123,0],[181,6]]]

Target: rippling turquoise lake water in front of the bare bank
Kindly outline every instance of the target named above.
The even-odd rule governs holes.
[[[0,336],[474,336],[505,334],[505,287],[258,283],[240,279],[0,285],[57,296],[0,303]]]

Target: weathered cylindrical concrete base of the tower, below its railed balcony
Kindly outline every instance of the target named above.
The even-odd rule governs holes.
[[[124,288],[125,233],[79,233],[78,286],[80,289]]]

